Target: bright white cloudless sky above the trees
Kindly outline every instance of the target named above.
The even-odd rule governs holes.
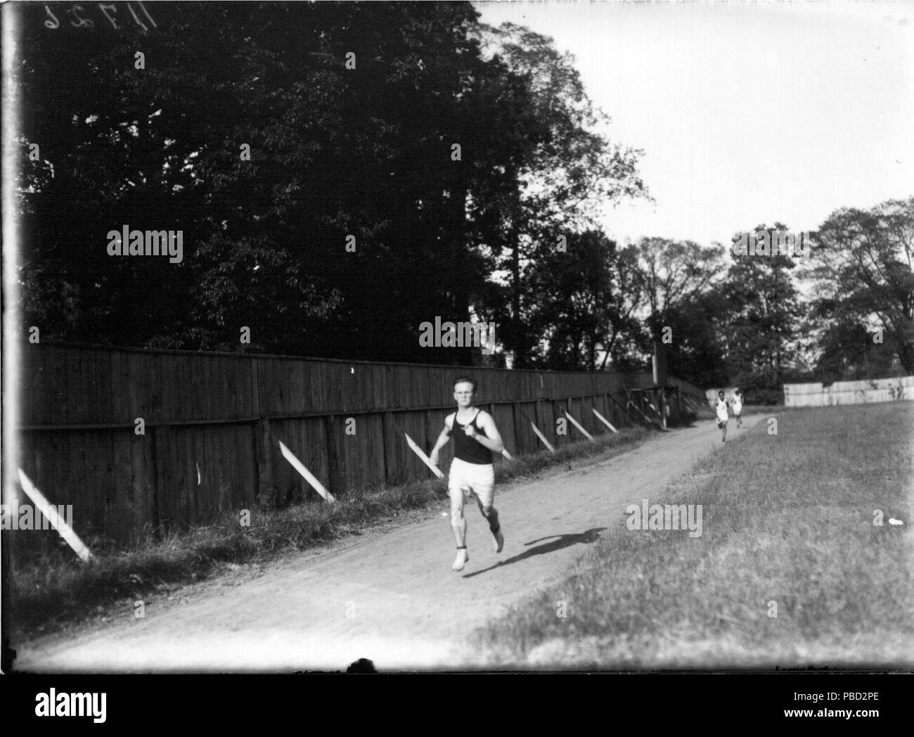
[[[914,195],[914,3],[476,2],[576,60],[656,200],[617,240],[710,245]]]

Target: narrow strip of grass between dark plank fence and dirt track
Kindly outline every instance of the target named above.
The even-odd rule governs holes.
[[[549,467],[598,463],[631,450],[651,436],[643,427],[595,436],[595,442],[570,443],[555,454],[518,456],[495,465],[496,480],[534,475]],[[98,555],[89,565],[69,549],[38,560],[16,560],[12,576],[12,624],[23,636],[52,631],[106,606],[148,593],[168,593],[241,563],[262,563],[357,535],[379,524],[420,514],[447,500],[447,484],[432,479],[404,486],[365,490],[333,505],[309,502],[281,510],[253,509],[250,527],[225,515],[199,529],[169,535],[135,550]],[[23,534],[23,533],[16,533]]]

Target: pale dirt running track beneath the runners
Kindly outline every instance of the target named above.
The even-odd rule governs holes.
[[[759,419],[747,418],[733,440]],[[496,487],[505,550],[495,554],[479,510],[467,507],[470,561],[451,571],[446,502],[424,519],[290,556],[259,577],[192,587],[183,603],[146,603],[107,625],[14,645],[27,671],[378,670],[468,668],[466,634],[563,571],[600,536],[624,529],[625,507],[662,502],[664,487],[720,447],[714,422],[655,435],[598,465]],[[161,597],[160,597],[161,598]]]

